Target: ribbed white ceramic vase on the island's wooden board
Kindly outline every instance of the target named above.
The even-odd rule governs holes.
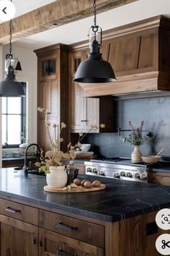
[[[50,166],[50,174],[46,175],[46,182],[49,187],[65,187],[67,174],[65,166]]]

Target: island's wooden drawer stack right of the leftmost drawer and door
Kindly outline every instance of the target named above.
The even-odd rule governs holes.
[[[40,256],[104,255],[104,226],[40,210]]]

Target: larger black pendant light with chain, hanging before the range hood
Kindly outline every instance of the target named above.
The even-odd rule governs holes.
[[[112,66],[104,61],[99,52],[102,46],[102,28],[97,25],[96,15],[96,0],[94,0],[94,26],[89,29],[90,54],[88,59],[79,65],[73,79],[75,82],[99,83],[116,80]]]

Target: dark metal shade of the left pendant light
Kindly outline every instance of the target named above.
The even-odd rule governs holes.
[[[15,79],[13,67],[9,66],[5,79],[0,82],[0,97],[22,96],[25,96],[24,88],[22,84]]]

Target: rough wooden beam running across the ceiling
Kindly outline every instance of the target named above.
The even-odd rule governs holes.
[[[97,13],[138,0],[97,0]],[[58,0],[12,20],[12,41],[27,38],[53,27],[93,14],[92,0]],[[56,25],[57,24],[57,25]],[[9,22],[0,24],[0,45],[9,43]]]

